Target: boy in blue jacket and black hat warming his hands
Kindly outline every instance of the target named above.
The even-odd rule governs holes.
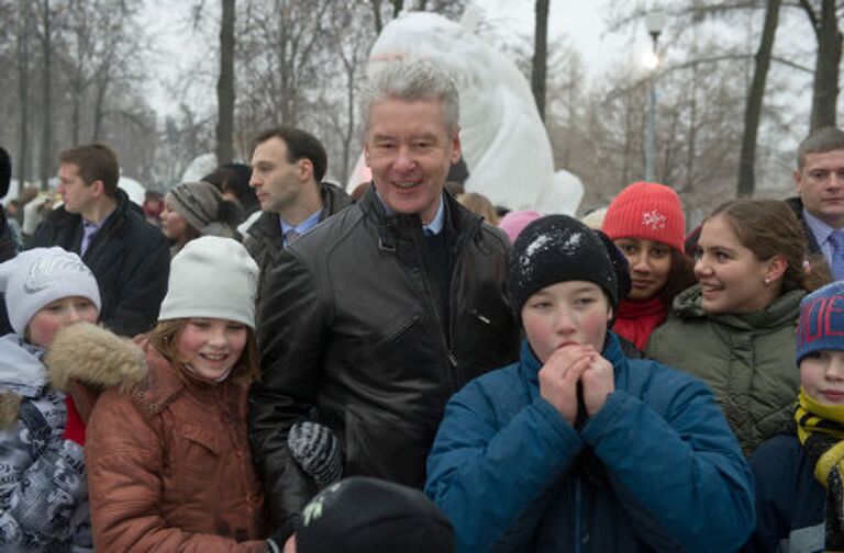
[[[608,330],[626,268],[553,215],[515,240],[521,360],[446,406],[425,490],[457,551],[733,551],[754,527],[749,469],[698,380],[624,357]]]

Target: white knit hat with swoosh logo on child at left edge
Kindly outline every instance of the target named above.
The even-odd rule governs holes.
[[[9,323],[20,336],[42,307],[63,297],[87,297],[100,311],[100,290],[91,270],[79,256],[55,246],[22,251],[0,263],[0,292],[5,294]]]

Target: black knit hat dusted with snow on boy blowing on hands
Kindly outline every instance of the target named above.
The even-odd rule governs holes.
[[[515,314],[545,286],[575,280],[600,286],[613,309],[630,291],[628,262],[606,235],[568,215],[548,215],[528,225],[510,252]]]

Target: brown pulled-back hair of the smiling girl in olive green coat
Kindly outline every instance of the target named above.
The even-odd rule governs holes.
[[[759,261],[786,258],[781,293],[810,290],[806,269],[806,235],[795,212],[778,200],[733,200],[715,207],[707,221],[722,215],[738,241]],[[706,222],[703,224],[706,224]]]

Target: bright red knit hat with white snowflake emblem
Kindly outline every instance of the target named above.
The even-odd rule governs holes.
[[[686,217],[680,198],[665,184],[634,182],[607,208],[601,230],[613,240],[654,240],[682,252]]]

